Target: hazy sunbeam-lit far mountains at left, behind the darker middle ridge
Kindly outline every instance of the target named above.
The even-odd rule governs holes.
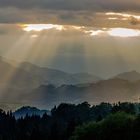
[[[28,104],[28,100],[24,100],[24,95],[41,85],[53,84],[58,87],[63,84],[84,84],[99,80],[101,78],[91,74],[69,74],[60,70],[39,67],[28,62],[12,65],[0,57],[0,99],[2,101],[0,107],[10,108],[8,102],[9,104]],[[6,102],[6,105],[3,102]]]

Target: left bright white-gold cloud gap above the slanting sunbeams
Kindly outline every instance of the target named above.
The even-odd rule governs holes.
[[[56,25],[56,24],[24,24],[21,25],[22,29],[24,31],[30,32],[30,31],[43,31],[43,30],[63,30],[64,27],[62,25]]]

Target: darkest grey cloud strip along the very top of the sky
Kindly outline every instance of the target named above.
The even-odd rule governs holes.
[[[0,0],[0,7],[48,10],[129,11],[140,10],[138,0]]]

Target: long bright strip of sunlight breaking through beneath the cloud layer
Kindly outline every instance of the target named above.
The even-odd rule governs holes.
[[[112,15],[113,13],[108,13]],[[113,18],[115,19],[115,18]],[[131,28],[102,28],[102,29],[89,29],[84,26],[73,26],[73,25],[57,25],[57,24],[23,24],[20,25],[22,30],[26,32],[40,32],[43,30],[58,30],[58,31],[71,31],[77,30],[83,34],[89,34],[90,36],[114,36],[114,37],[137,37],[140,36],[139,29],[131,29]],[[32,34],[31,38],[39,37],[38,34]]]

